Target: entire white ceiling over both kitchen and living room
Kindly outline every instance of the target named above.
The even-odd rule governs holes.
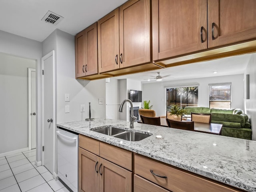
[[[56,28],[76,35],[127,0],[0,0],[0,30],[42,42]],[[64,19],[53,26],[41,21],[50,10]],[[250,54],[116,77],[149,83],[150,76],[172,74],[166,80],[242,74]],[[212,72],[218,71],[217,74]],[[151,80],[150,82],[156,82]]]

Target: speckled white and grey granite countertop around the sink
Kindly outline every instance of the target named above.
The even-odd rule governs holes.
[[[96,118],[72,121],[57,126],[95,138],[200,174],[219,182],[256,192],[256,141],[134,123],[134,130],[152,136],[141,141],[126,141],[91,131],[90,128],[117,126],[130,130],[130,122]],[[161,135],[162,138],[156,138]]]

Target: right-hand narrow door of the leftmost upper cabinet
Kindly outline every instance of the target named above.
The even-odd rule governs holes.
[[[85,29],[85,75],[98,73],[97,22]]]

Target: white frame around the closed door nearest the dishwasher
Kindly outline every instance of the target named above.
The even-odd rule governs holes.
[[[52,61],[52,72],[53,72],[53,132],[54,132],[54,136],[53,136],[53,169],[55,170],[55,140],[56,140],[56,67],[55,67],[55,53],[54,50],[52,50],[50,53],[46,54],[45,56],[42,57],[41,59],[41,92],[42,92],[42,111],[41,111],[41,126],[42,126],[42,130],[41,130],[41,139],[42,139],[42,147],[44,146],[44,75],[42,74],[42,71],[44,70],[44,61],[46,59],[48,59],[50,56],[52,56],[53,61]],[[43,150],[41,151],[41,157],[42,157],[42,165],[44,165],[44,152]],[[53,176],[56,176],[56,173],[53,171]]]

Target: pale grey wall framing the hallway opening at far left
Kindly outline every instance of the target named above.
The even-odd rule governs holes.
[[[24,38],[21,36],[17,36],[14,34],[10,34],[8,32],[4,32],[0,30],[0,52],[2,53],[7,53],[11,54],[14,56],[18,56],[20,58],[28,58],[31,60],[36,61],[36,78],[40,76],[41,72],[41,58],[42,58],[42,43],[31,40],[28,38]],[[38,116],[41,116],[41,87],[38,86],[41,84],[41,79],[37,78],[36,80],[36,126],[37,126],[37,133],[38,133],[38,128],[41,128],[41,121],[38,118]],[[40,130],[39,130],[40,131]],[[39,143],[41,143],[41,138],[37,138]],[[19,147],[19,146],[18,146]],[[38,148],[39,146],[36,146]],[[39,156],[41,158],[41,154],[38,154],[37,152],[37,157]]]

